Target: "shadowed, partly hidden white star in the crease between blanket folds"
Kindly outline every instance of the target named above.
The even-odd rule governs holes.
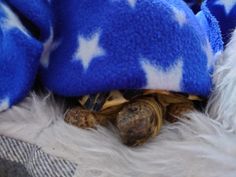
[[[43,53],[41,55],[40,63],[44,68],[49,66],[49,59],[51,53],[61,44],[59,41],[53,42],[54,33],[53,29],[50,29],[50,36],[43,44]]]

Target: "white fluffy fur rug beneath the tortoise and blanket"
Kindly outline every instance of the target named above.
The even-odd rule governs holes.
[[[81,177],[235,177],[236,31],[217,66],[206,113],[166,125],[139,148],[127,148],[114,131],[81,130],[63,122],[63,106],[32,94],[0,114],[0,134],[42,147],[79,164]]]

